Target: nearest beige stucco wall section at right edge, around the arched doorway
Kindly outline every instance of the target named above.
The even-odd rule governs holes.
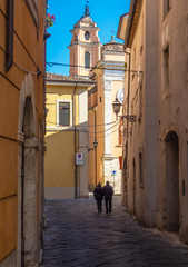
[[[188,2],[181,0],[178,3],[171,2],[171,9],[167,17],[162,20],[162,6],[160,4],[160,65],[162,66],[162,50],[169,44],[170,57],[170,86],[169,90],[164,90],[164,76],[162,68],[160,72],[160,172],[159,182],[161,190],[159,192],[159,226],[162,225],[162,216],[165,216],[162,207],[165,207],[166,198],[166,175],[162,171],[162,167],[166,168],[168,162],[165,162],[162,157],[165,154],[165,138],[169,131],[175,131],[179,138],[179,224],[180,224],[180,238],[184,241],[188,240],[188,212],[187,202],[188,194],[187,187],[185,195],[182,194],[182,182],[187,185],[187,11]],[[179,27],[180,26],[180,27]]]

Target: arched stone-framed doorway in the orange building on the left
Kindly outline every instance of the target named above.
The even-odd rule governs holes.
[[[37,258],[37,149],[31,98],[27,97],[22,120],[21,160],[21,267]]]

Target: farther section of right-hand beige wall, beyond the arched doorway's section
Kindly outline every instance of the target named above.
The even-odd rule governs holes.
[[[142,1],[138,24],[131,43],[129,115],[136,115],[135,123],[128,122],[128,208],[148,225],[155,224],[158,194],[158,2]],[[155,18],[155,19],[152,19]],[[129,59],[128,59],[129,60]],[[128,80],[129,72],[126,73]],[[126,83],[126,96],[128,83]],[[126,108],[127,109],[127,108]],[[127,112],[127,110],[126,110]],[[125,123],[127,127],[127,122]],[[126,140],[125,136],[125,140]],[[152,149],[151,149],[152,148]],[[155,152],[154,152],[155,151]],[[140,182],[139,154],[142,154]],[[135,170],[133,170],[135,160]],[[136,176],[133,178],[133,171]]]

